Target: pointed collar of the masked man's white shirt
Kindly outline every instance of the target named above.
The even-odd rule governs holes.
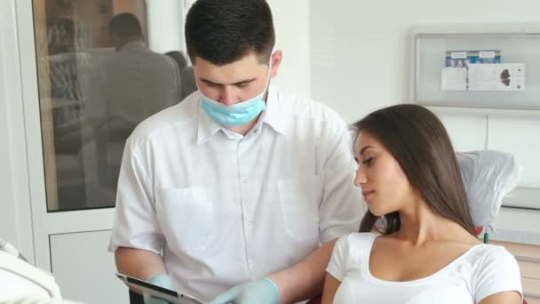
[[[211,119],[201,107],[200,92],[198,92],[198,126],[197,126],[197,144],[203,144],[219,130],[225,129],[220,124]],[[285,134],[285,122],[283,121],[282,105],[280,102],[279,90],[274,85],[270,85],[268,95],[266,96],[266,109],[259,117],[258,124],[253,128],[261,128],[262,124],[268,124],[275,132]],[[226,132],[226,130],[224,130]]]

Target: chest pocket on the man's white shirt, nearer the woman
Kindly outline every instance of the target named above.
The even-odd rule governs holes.
[[[298,240],[318,239],[322,188],[317,177],[278,180],[277,185],[285,231]]]

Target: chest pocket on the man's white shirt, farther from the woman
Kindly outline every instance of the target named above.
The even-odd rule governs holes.
[[[211,244],[214,210],[206,188],[158,188],[155,209],[172,252],[199,253]]]

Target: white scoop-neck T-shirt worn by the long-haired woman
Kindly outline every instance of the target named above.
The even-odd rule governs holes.
[[[496,292],[521,293],[520,268],[504,247],[477,244],[431,276],[394,282],[372,276],[369,254],[377,235],[342,236],[327,271],[341,284],[334,303],[478,303]]]

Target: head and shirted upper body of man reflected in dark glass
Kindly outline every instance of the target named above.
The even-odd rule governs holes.
[[[116,52],[95,69],[86,110],[91,120],[132,129],[180,101],[179,69],[169,56],[148,50],[135,15],[115,15],[108,31]]]

